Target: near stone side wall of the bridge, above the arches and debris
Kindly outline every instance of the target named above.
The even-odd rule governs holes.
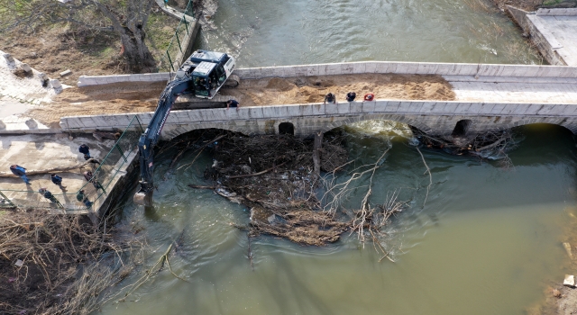
[[[152,112],[136,114],[144,125]],[[134,114],[63,117],[66,131],[125,128]],[[454,101],[375,101],[337,104],[293,104],[241,107],[236,110],[202,109],[171,112],[162,130],[172,139],[190,130],[219,128],[245,134],[277,133],[279,123],[291,122],[298,135],[331,130],[355,121],[406,122],[434,134],[453,131],[457,121],[472,120],[471,131],[502,130],[528,123],[554,123],[577,132],[577,105],[538,103],[463,103]]]

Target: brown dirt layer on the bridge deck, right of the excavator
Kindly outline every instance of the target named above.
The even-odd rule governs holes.
[[[268,104],[319,103],[325,94],[336,94],[337,102],[353,91],[375,94],[378,99],[454,100],[453,86],[442,76],[360,74],[342,76],[307,76],[242,80],[234,89],[222,94],[233,95],[242,106]]]

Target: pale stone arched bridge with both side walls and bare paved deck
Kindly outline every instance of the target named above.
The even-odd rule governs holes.
[[[206,128],[245,134],[310,135],[356,121],[405,122],[432,134],[450,134],[459,121],[468,132],[553,123],[577,133],[577,67],[413,62],[354,62],[237,69],[242,79],[362,73],[435,74],[453,85],[455,101],[377,99],[337,104],[302,103],[171,112],[163,139]],[[242,101],[241,101],[242,102]],[[152,112],[136,114],[146,125]],[[64,117],[63,130],[124,128],[134,114]]]

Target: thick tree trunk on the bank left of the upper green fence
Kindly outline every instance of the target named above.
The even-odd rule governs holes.
[[[133,73],[156,72],[156,61],[144,43],[146,33],[142,26],[134,30],[123,27],[120,40],[124,45],[123,57]]]

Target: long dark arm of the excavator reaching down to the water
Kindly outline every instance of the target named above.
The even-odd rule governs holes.
[[[152,191],[154,184],[152,175],[154,173],[154,146],[160,139],[160,131],[169,117],[172,105],[179,97],[179,94],[187,90],[194,90],[192,86],[192,77],[185,76],[180,79],[169,82],[160,94],[159,103],[156,112],[152,115],[151,122],[142,133],[138,141],[138,151],[140,155],[141,166],[141,189],[134,194],[134,203],[145,206],[151,205]]]

